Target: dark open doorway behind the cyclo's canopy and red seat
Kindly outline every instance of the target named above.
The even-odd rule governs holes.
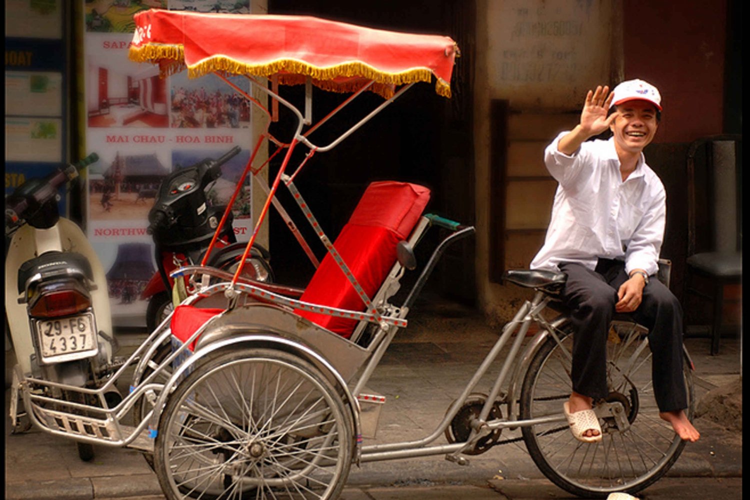
[[[269,0],[269,13],[318,16],[393,31],[446,34],[458,43],[460,57],[452,77],[451,99],[437,95],[434,83],[415,85],[332,151],[312,157],[295,183],[330,238],[335,238],[347,222],[365,187],[380,180],[425,185],[432,191],[427,212],[473,224],[473,2],[382,0],[355,6],[345,0]],[[302,105],[302,86],[282,88],[281,92],[292,103]],[[374,94],[362,95],[358,99],[359,102],[355,100],[338,120],[341,128],[337,132],[346,130],[383,101]],[[313,121],[320,119],[341,100],[339,94],[314,89],[314,113],[320,115],[314,115]],[[280,112],[283,113],[283,109]],[[284,115],[281,118],[283,123]],[[274,126],[273,133],[284,138],[290,136],[290,133],[285,135],[281,130],[275,130]],[[311,136],[311,140],[318,145],[327,145],[335,135],[331,133],[327,137],[322,128]],[[278,172],[280,157],[272,161],[270,176]],[[298,153],[292,166],[299,165],[302,158]],[[279,197],[317,256],[322,258],[325,253],[322,245],[309,227],[302,227],[304,221],[299,217],[299,210],[290,203],[290,196],[284,188]],[[314,267],[273,209],[270,217],[270,246],[276,277],[279,282],[304,286]],[[417,251],[422,263],[429,258],[427,250],[437,243],[437,230],[431,229],[429,233],[431,235]],[[428,289],[474,304],[474,248],[474,241],[469,238],[450,249],[428,281]]]

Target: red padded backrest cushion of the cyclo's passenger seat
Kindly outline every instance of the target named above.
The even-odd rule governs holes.
[[[396,262],[396,245],[409,237],[429,199],[428,188],[406,182],[374,182],[365,190],[334,247],[369,298],[383,285]],[[359,294],[330,254],[318,266],[300,300],[338,309],[365,310]],[[346,338],[351,337],[357,324],[355,319],[305,310],[295,312]]]

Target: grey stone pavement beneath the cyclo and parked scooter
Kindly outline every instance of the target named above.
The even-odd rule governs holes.
[[[397,336],[368,384],[387,397],[380,416],[378,442],[419,439],[430,434],[496,340],[499,328],[490,328],[472,310],[456,304],[425,309],[420,314],[415,309],[409,328]],[[122,349],[127,351],[144,335],[131,331],[118,338]],[[639,498],[739,499],[742,486],[739,340],[722,339],[717,356],[709,355],[707,338],[688,338],[685,343],[696,366],[696,397],[699,402],[703,400],[706,409],[695,421],[701,439],[688,443],[667,477],[646,489]],[[123,381],[126,392],[127,382]],[[739,393],[734,389],[727,391],[727,387],[736,384]],[[156,476],[137,451],[95,446],[95,459],[83,463],[77,457],[74,442],[68,439],[38,430],[10,436],[9,391],[5,399],[5,498],[163,499]],[[719,406],[721,412],[711,411]],[[520,435],[518,431],[515,433]],[[514,436],[503,431],[503,438]],[[341,498],[573,498],[538,472],[523,442],[498,446],[469,458],[469,466],[450,463],[443,456],[353,466]],[[667,495],[678,490],[679,495]],[[716,496],[720,492],[725,496]],[[733,496],[732,492],[739,496]]]

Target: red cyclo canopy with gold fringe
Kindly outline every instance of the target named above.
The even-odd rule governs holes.
[[[287,85],[305,82],[354,91],[373,80],[384,97],[395,85],[437,79],[450,97],[458,46],[450,37],[363,28],[311,16],[192,13],[145,10],[136,22],[130,59],[159,64],[162,74],[187,66],[191,78],[212,71],[278,75]]]

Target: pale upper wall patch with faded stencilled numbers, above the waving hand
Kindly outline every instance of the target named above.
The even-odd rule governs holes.
[[[511,108],[568,109],[592,85],[610,80],[619,47],[619,1],[490,1],[487,79],[490,98]]]

